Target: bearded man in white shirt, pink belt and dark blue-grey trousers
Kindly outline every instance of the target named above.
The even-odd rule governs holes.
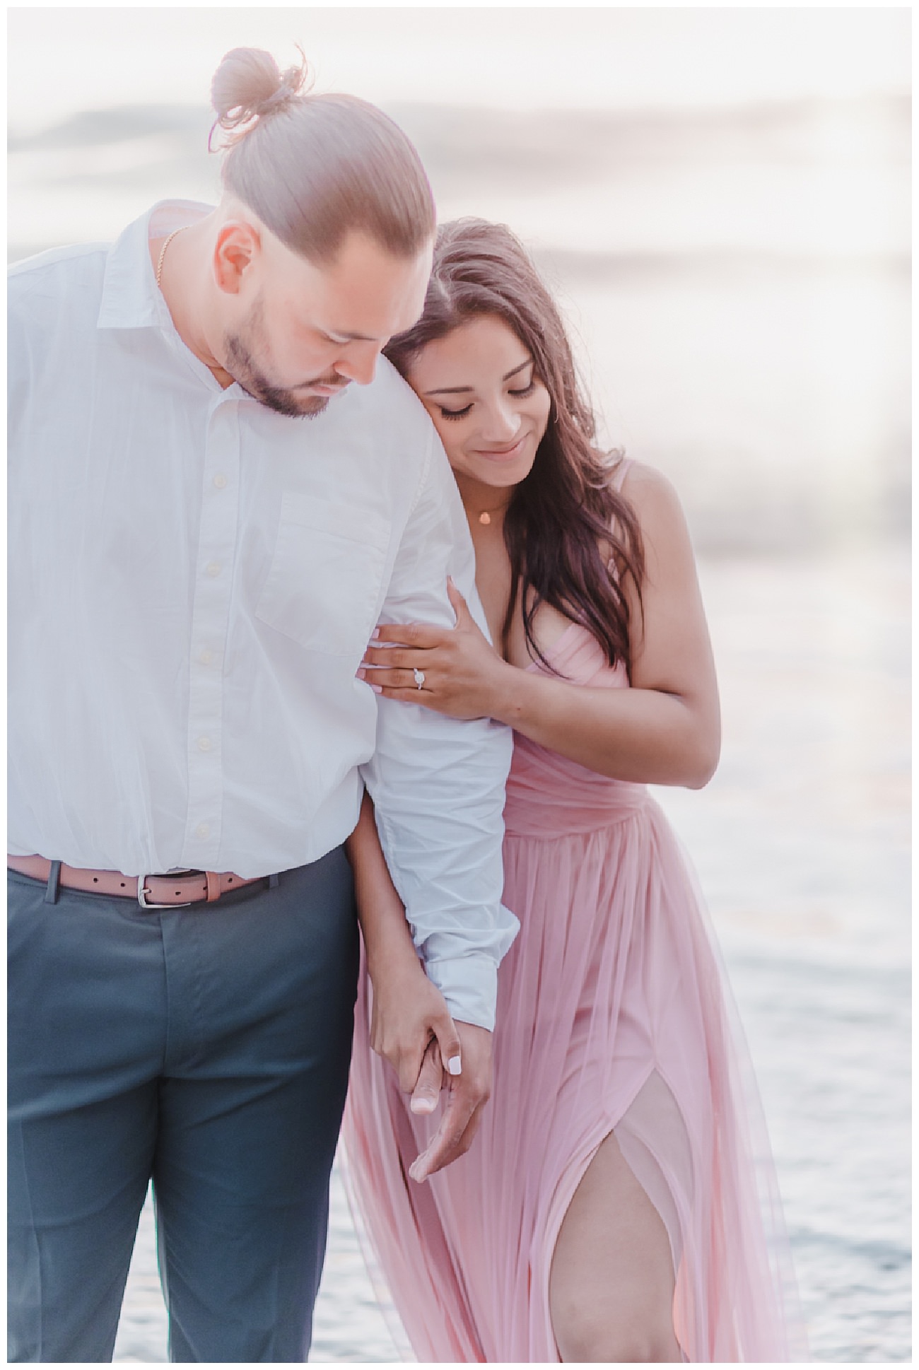
[[[430,190],[379,111],[301,79],[225,59],[216,210],[12,270],[12,1360],[111,1359],[151,1177],[170,1358],[305,1359],[362,777],[456,1021],[437,1163],[488,1092],[509,738],[355,678],[378,619],[474,593],[442,449],[378,364]]]

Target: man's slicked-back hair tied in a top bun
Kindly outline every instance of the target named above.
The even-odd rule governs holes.
[[[411,258],[434,234],[434,197],[418,152],[381,110],[311,95],[308,67],[281,71],[260,48],[234,48],[211,103],[227,134],[222,178],[292,251],[329,262],[351,229]],[[214,130],[212,130],[214,133]]]

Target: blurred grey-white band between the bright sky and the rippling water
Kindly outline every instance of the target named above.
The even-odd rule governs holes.
[[[499,219],[533,251],[600,441],[672,480],[700,552],[907,538],[908,99],[389,112],[442,219]],[[11,122],[12,260],[219,197],[204,107]]]

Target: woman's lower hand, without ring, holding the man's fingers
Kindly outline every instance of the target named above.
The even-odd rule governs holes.
[[[412,1096],[412,1112],[433,1112],[441,1091],[440,1062],[448,1063],[452,1075],[462,1070],[463,1058],[444,996],[425,974],[414,948],[368,963],[368,971],[374,986],[370,1045],[394,1069],[399,1088]],[[438,1069],[422,1077],[422,1060],[433,1044]]]

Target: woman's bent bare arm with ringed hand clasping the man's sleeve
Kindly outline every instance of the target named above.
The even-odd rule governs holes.
[[[718,764],[718,685],[686,522],[668,481],[633,466],[623,493],[645,544],[644,614],[634,586],[631,686],[572,685],[509,666],[478,632],[456,592],[453,632],[411,625],[382,629],[366,662],[399,667],[383,693],[455,717],[490,715],[533,741],[615,780],[700,788]],[[414,667],[425,673],[411,688]],[[386,673],[388,674],[388,673]],[[373,682],[383,673],[368,673]],[[408,686],[408,688],[405,688]]]

